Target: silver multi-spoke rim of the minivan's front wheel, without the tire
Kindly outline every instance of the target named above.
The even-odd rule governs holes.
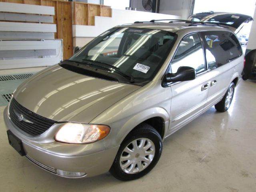
[[[139,138],[130,142],[120,156],[120,167],[128,173],[141,172],[152,162],[155,155],[155,145],[148,138]]]

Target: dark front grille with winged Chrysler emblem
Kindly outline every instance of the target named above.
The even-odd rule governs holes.
[[[48,130],[56,121],[42,117],[12,98],[9,107],[10,119],[12,122],[30,136],[38,136]]]

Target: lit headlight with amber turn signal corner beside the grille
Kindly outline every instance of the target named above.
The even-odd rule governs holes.
[[[105,138],[109,133],[110,127],[106,125],[68,122],[60,127],[55,140],[72,144],[92,143]]]

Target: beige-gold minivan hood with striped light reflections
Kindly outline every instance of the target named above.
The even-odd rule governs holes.
[[[140,86],[85,76],[55,66],[21,84],[14,98],[28,110],[58,122],[89,123]]]

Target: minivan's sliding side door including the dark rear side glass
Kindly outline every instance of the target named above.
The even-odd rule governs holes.
[[[232,78],[231,62],[242,55],[242,50],[236,37],[226,31],[206,31],[200,33],[204,41],[204,51],[210,89],[205,109],[216,104],[224,96]]]

